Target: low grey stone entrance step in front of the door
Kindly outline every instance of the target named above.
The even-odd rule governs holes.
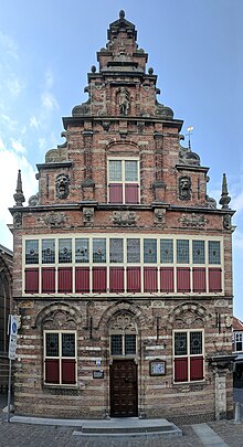
[[[110,418],[108,421],[84,421],[81,432],[73,436],[136,436],[163,435],[182,436],[182,432],[167,419],[139,419],[137,417]]]

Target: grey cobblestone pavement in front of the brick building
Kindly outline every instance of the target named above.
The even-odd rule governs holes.
[[[229,447],[243,446],[243,424],[233,421],[208,423],[209,426],[229,445]],[[76,427],[60,427],[29,424],[8,424],[0,421],[0,447],[202,447],[190,425],[180,427],[182,437],[170,439],[159,437],[89,437],[73,436]]]

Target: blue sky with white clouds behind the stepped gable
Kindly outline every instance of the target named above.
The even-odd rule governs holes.
[[[192,149],[210,167],[210,196],[219,200],[226,172],[237,211],[234,313],[243,319],[242,0],[1,1],[0,244],[12,247],[8,207],[18,169],[28,203],[38,191],[35,164],[64,142],[61,118],[86,100],[86,74],[120,9],[158,75],[159,102],[184,120],[183,134],[194,127]]]

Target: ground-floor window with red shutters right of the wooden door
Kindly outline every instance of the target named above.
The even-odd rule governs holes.
[[[175,331],[173,364],[175,382],[194,382],[204,379],[202,331]]]

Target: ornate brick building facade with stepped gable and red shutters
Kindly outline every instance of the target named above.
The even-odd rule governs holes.
[[[157,100],[135,25],[119,19],[66,141],[19,172],[15,411],[67,417],[220,418],[232,412],[232,224],[208,168]]]

